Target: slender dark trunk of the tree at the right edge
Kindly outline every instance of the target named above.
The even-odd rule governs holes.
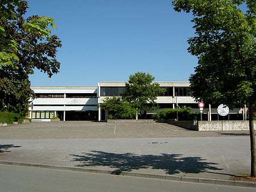
[[[249,128],[250,128],[250,145],[251,145],[251,177],[255,177],[255,135],[254,135],[254,104],[249,105]]]

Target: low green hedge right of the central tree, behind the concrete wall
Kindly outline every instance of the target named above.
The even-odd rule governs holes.
[[[164,108],[162,111],[159,111],[157,114],[152,115],[154,119],[176,119],[177,112],[179,115],[179,120],[194,120],[196,119],[197,114],[191,112],[191,108]]]

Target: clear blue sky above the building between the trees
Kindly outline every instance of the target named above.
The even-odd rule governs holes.
[[[28,0],[27,16],[55,19],[63,47],[60,72],[36,71],[32,86],[96,86],[146,72],[155,81],[188,81],[197,59],[187,52],[191,15],[168,0]]]

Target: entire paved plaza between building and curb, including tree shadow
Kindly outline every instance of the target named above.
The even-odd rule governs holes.
[[[0,130],[2,163],[209,181],[250,173],[246,131],[198,132],[167,123],[105,122],[38,122]]]

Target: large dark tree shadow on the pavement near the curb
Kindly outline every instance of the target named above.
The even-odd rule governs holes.
[[[222,170],[217,163],[205,162],[201,157],[182,157],[181,154],[160,153],[160,155],[136,155],[134,153],[109,153],[91,151],[83,155],[70,155],[72,161],[79,161],[76,166],[107,166],[115,168],[113,174],[131,172],[138,169],[161,169],[167,174],[201,173],[205,170]]]

